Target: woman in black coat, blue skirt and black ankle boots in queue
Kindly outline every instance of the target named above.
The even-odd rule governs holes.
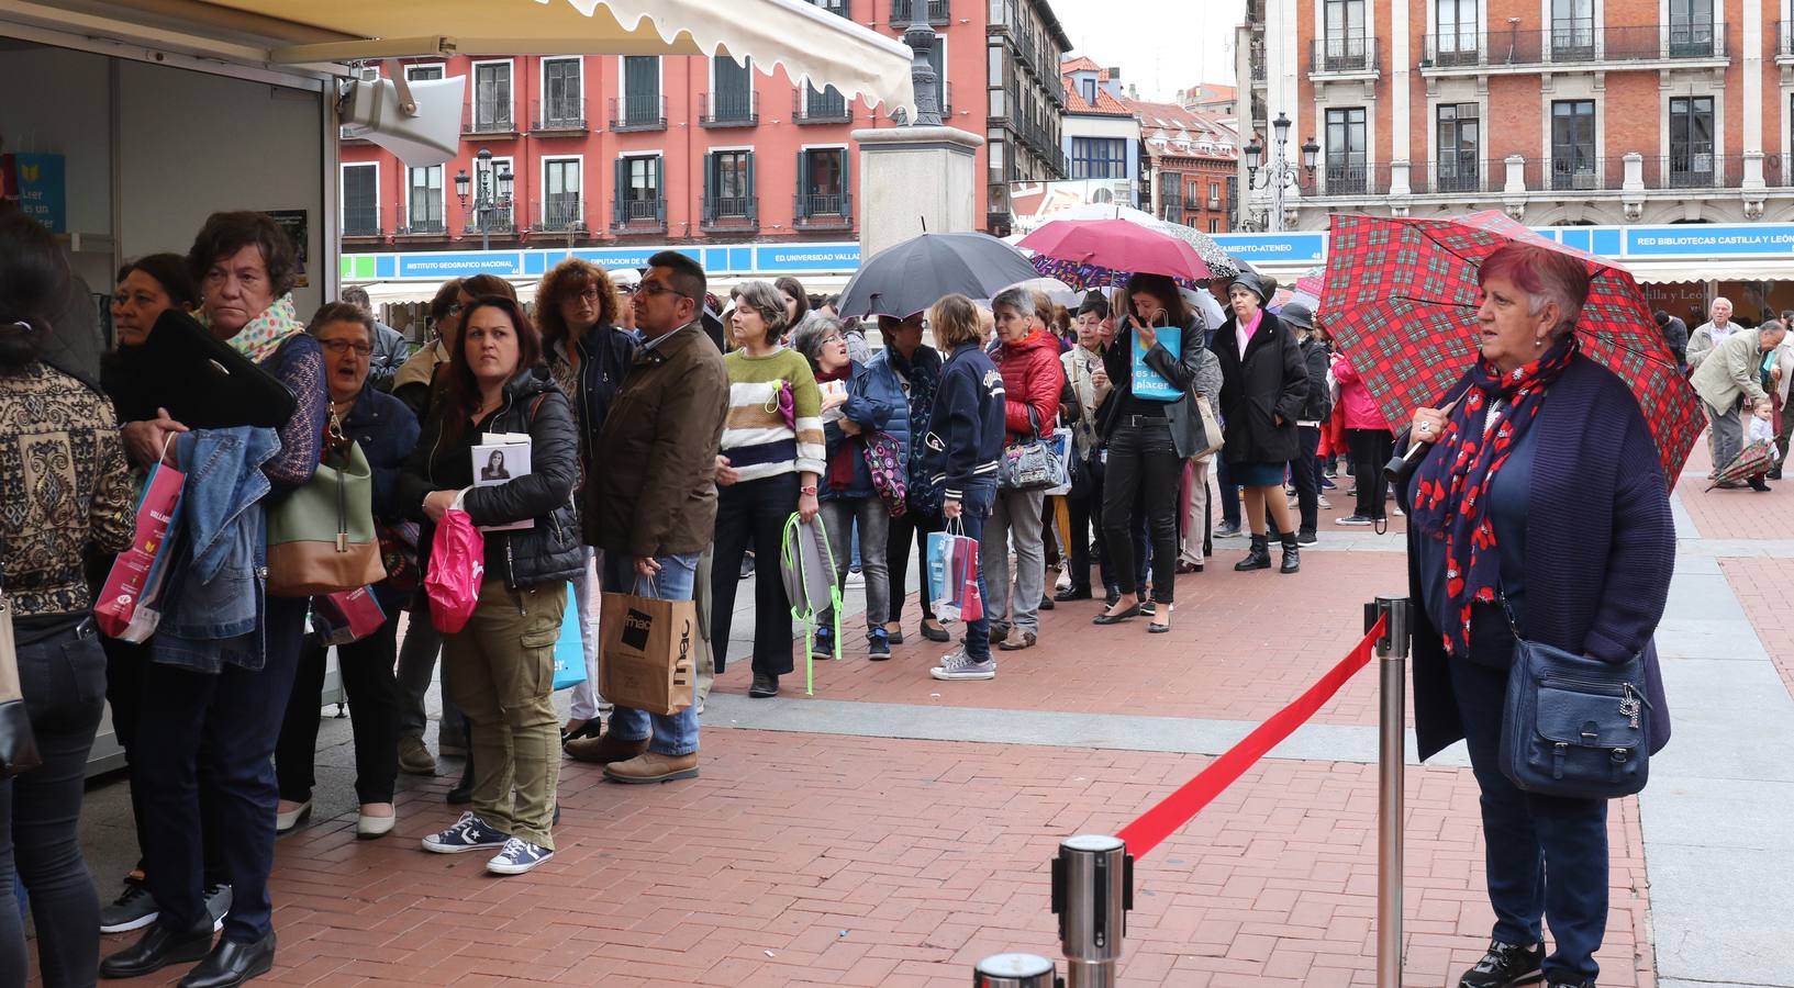
[[[1295,421],[1308,400],[1308,366],[1295,332],[1265,310],[1270,290],[1247,271],[1227,287],[1232,314],[1215,330],[1215,357],[1222,364],[1222,455],[1229,479],[1245,488],[1245,516],[1252,525],[1252,552],[1236,570],[1270,568],[1265,513],[1283,536],[1281,572],[1302,568],[1295,520],[1283,495],[1283,468],[1301,454]]]

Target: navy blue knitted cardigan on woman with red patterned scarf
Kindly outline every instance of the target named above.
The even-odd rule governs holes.
[[[1466,375],[1450,396],[1467,384]],[[1652,635],[1676,568],[1676,524],[1650,430],[1625,382],[1588,357],[1577,357],[1552,384],[1532,429],[1537,445],[1525,547],[1532,606],[1523,631],[1532,640],[1607,662],[1645,653],[1656,751],[1668,742],[1670,717]],[[1406,484],[1398,497],[1403,511],[1410,511]],[[1408,525],[1414,733],[1421,758],[1430,758],[1462,739],[1464,726],[1444,665],[1444,642],[1419,604],[1417,538]]]

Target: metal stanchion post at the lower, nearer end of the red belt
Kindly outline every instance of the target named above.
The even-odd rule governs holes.
[[[1053,913],[1069,988],[1114,988],[1132,907],[1134,857],[1119,837],[1080,834],[1058,843]]]

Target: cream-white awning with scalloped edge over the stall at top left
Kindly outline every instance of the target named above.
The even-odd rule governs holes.
[[[25,7],[39,4],[25,0]],[[407,56],[714,56],[913,106],[906,45],[804,0],[61,0],[266,50],[267,63]]]

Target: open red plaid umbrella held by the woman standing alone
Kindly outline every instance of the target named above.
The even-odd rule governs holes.
[[[1320,319],[1399,429],[1414,409],[1437,405],[1476,359],[1476,267],[1514,240],[1588,262],[1588,301],[1577,319],[1582,353],[1633,389],[1674,488],[1706,418],[1624,267],[1546,240],[1496,210],[1442,219],[1338,213]]]

